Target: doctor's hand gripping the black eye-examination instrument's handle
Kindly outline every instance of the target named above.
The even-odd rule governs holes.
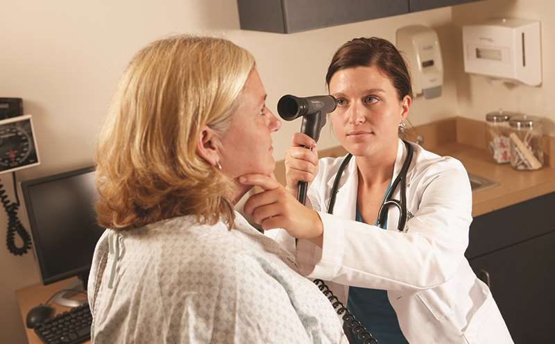
[[[287,191],[297,195],[298,182],[310,183],[318,173],[318,152],[316,141],[302,132],[291,138],[291,147],[285,152],[285,180]]]

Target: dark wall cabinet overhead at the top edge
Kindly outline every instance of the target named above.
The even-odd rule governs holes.
[[[479,0],[237,0],[244,30],[296,33]]]

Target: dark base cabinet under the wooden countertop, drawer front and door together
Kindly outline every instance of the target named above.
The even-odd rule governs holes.
[[[555,343],[555,193],[478,216],[466,257],[515,343]]]

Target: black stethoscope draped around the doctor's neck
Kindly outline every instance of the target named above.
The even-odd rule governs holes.
[[[409,171],[409,166],[411,165],[412,155],[413,155],[413,148],[411,144],[409,144],[409,142],[404,140],[403,140],[403,143],[405,146],[407,146],[407,157],[404,159],[403,166],[401,167],[401,171],[399,171],[397,178],[395,178],[395,180],[391,184],[391,187],[389,188],[386,194],[384,203],[382,203],[382,206],[379,207],[379,212],[377,213],[378,214],[377,223],[376,223],[378,227],[383,227],[383,225],[386,222],[388,209],[393,205],[397,207],[397,209],[399,210],[399,222],[398,222],[397,229],[400,232],[404,232],[404,225],[407,224],[407,171]],[[345,171],[345,168],[349,164],[351,157],[352,157],[352,154],[349,153],[345,157],[345,159],[343,159],[343,162],[341,163],[341,166],[339,166],[339,170],[335,175],[335,180],[332,187],[332,193],[330,198],[330,204],[327,206],[328,214],[332,214],[334,212],[335,196],[337,195],[337,191],[339,188],[339,180],[341,180],[341,175],[343,174],[343,171]],[[401,184],[400,186],[401,200],[395,200],[393,199],[393,193],[395,193],[395,189],[397,189],[399,184]]]

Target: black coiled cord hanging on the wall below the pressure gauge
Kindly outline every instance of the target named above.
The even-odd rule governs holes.
[[[8,250],[12,252],[12,255],[22,256],[27,253],[31,248],[31,236],[23,227],[21,221],[17,217],[17,209],[19,209],[19,198],[17,197],[17,184],[15,182],[15,173],[12,173],[13,177],[13,190],[15,193],[15,199],[17,203],[12,203],[8,200],[8,195],[6,195],[6,190],[4,190],[3,184],[0,182],[0,202],[2,203],[6,214],[8,215],[8,232],[6,234],[6,245]],[[15,234],[18,234],[23,241],[22,247],[17,247],[15,245]]]

